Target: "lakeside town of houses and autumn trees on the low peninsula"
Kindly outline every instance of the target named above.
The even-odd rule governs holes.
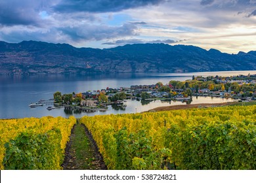
[[[150,103],[154,100],[186,101],[193,96],[231,97],[238,101],[256,100],[256,75],[192,76],[191,80],[171,80],[169,84],[135,85],[130,88],[106,88],[83,93],[54,93],[54,107],[66,110],[106,110],[108,105],[121,106],[126,99]],[[40,103],[40,102],[39,102]]]

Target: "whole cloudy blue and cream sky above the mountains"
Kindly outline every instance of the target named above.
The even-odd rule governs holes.
[[[256,0],[0,0],[0,41],[256,50]]]

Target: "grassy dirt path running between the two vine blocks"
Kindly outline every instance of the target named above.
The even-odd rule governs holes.
[[[75,124],[72,128],[62,167],[64,170],[107,169],[96,142],[85,125]]]

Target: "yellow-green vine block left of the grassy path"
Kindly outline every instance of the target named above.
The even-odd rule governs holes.
[[[62,169],[66,143],[76,120],[0,120],[0,169]]]

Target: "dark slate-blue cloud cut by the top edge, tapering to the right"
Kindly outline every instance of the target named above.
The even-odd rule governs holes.
[[[118,12],[129,8],[158,5],[166,0],[62,0],[58,12]]]

